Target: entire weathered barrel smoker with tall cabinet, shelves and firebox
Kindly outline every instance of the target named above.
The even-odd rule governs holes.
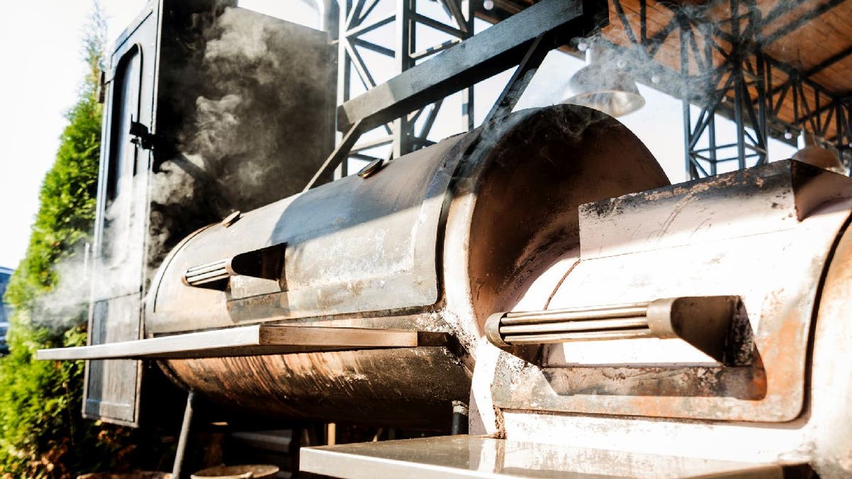
[[[164,147],[169,118],[203,103],[179,99],[210,93],[167,62],[218,41],[193,37],[181,5],[158,3],[113,59],[90,344],[39,352],[91,360],[89,417],[138,424],[145,361],[229,420],[446,431],[453,402],[469,406],[469,436],[302,451],[302,470],[330,476],[852,475],[852,180],[784,160],[670,185],[625,126],[561,105],[300,192],[331,144],[316,113],[274,154],[240,150],[297,168],[157,206],[159,170],[210,179]],[[317,32],[281,31],[328,54]],[[163,43],[153,65],[146,35]],[[328,100],[323,65],[306,103]],[[146,69],[157,89],[130,82]],[[131,93],[151,101],[127,107]],[[321,112],[296,100],[252,124]],[[117,222],[122,168],[141,173]],[[177,228],[167,255],[146,235],[154,213]],[[118,225],[147,250],[113,248]]]

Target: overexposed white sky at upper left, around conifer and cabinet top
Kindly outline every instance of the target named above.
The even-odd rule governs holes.
[[[144,0],[101,0],[112,48]],[[313,19],[299,0],[247,0],[246,7],[285,9]],[[38,191],[59,147],[63,113],[85,75],[83,27],[92,0],[3,3],[0,14],[0,266],[17,268],[38,209]]]

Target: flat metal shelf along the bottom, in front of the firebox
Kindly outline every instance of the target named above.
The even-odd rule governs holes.
[[[371,479],[496,477],[749,477],[780,479],[780,465],[706,460],[490,437],[444,436],[302,449],[301,470]]]

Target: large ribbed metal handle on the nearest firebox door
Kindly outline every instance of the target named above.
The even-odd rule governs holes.
[[[486,320],[488,341],[522,344],[611,339],[680,338],[724,362],[735,326],[744,317],[739,296],[670,297],[643,303],[504,312]],[[747,320],[747,319],[746,319]]]

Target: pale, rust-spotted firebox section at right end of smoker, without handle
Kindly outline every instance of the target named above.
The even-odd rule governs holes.
[[[720,344],[733,355],[677,338],[534,332],[532,354],[483,340],[476,431],[519,445],[506,462],[531,469],[529,441],[589,474],[680,476],[704,460],[849,476],[850,211],[848,177],[792,160],[584,205],[561,282],[531,289],[515,317],[726,295],[741,300],[740,330]]]

